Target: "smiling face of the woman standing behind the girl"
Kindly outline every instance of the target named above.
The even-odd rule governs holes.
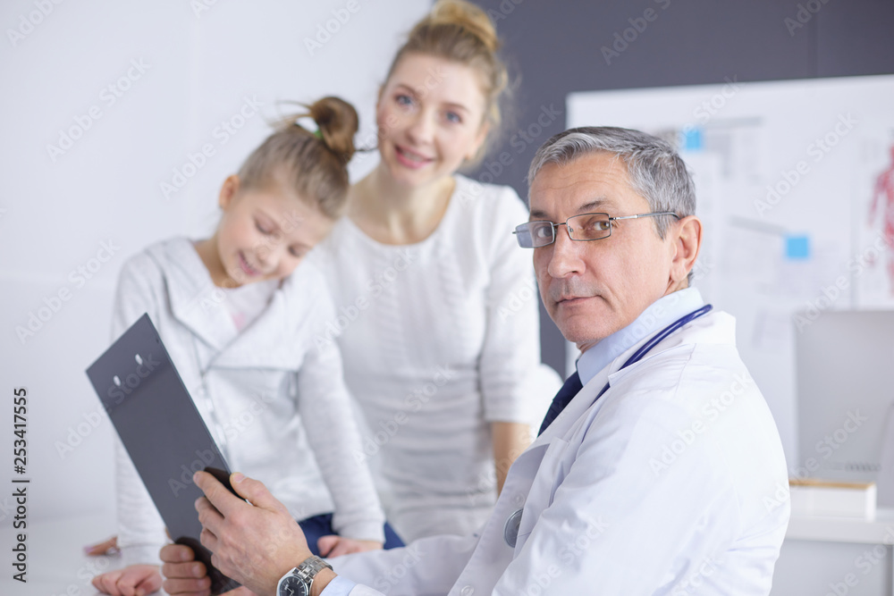
[[[375,116],[382,164],[410,186],[456,172],[487,136],[480,75],[432,55],[401,59],[382,88]]]

